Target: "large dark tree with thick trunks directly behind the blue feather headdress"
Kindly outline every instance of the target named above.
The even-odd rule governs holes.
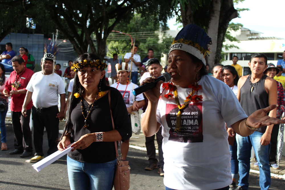
[[[229,22],[238,17],[238,11],[248,9],[235,9],[234,3],[244,0],[173,0],[172,5],[178,21],[183,26],[197,24],[212,38],[211,54],[207,58],[210,67],[220,63],[223,42],[227,34]],[[229,36],[228,36],[229,37]]]

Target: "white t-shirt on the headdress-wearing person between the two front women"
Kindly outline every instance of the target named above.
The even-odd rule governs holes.
[[[114,83],[111,85],[111,87],[117,88],[120,91],[127,107],[130,107],[133,105],[133,97],[134,97],[133,89],[139,87],[138,85],[136,85],[136,84],[134,85],[134,83],[132,83],[132,82],[130,82],[130,84],[128,84],[128,86],[122,85],[120,83],[119,83],[119,85],[118,85],[118,83]],[[125,93],[125,95],[124,95],[124,93]],[[135,101],[141,101],[141,100],[144,100],[143,94],[135,96]]]

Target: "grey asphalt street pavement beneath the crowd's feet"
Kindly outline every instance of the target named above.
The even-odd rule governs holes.
[[[60,122],[60,128],[64,122]],[[68,182],[66,156],[63,156],[50,166],[37,172],[33,169],[33,163],[27,163],[28,158],[21,158],[19,155],[10,155],[9,152],[14,150],[13,147],[13,129],[11,126],[11,119],[6,119],[7,126],[7,151],[0,152],[0,190],[35,190],[35,189],[70,189]],[[129,149],[127,160],[131,167],[131,183],[130,189],[133,190],[162,190],[165,189],[163,185],[163,177],[157,173],[157,169],[152,171],[144,170],[148,165],[148,158],[145,150],[140,150],[145,147],[145,138],[143,134],[133,134],[130,139],[132,145]],[[132,148],[133,147],[133,148]],[[142,147],[142,148],[140,148]],[[157,147],[157,144],[156,144]],[[139,149],[138,149],[139,148]],[[48,150],[47,135],[44,132],[44,153]],[[158,158],[158,154],[157,154]],[[258,169],[253,167],[252,169]],[[285,171],[285,159],[283,158],[280,170],[271,170],[272,173],[282,174]],[[195,174],[193,174],[195,175]],[[207,174],[205,174],[207,175]],[[283,175],[283,174],[282,174]],[[250,173],[249,189],[260,189],[259,175]],[[285,176],[285,175],[284,175]],[[285,190],[285,180],[280,179],[280,176],[272,177],[270,190]]]

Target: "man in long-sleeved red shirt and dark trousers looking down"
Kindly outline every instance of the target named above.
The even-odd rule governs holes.
[[[21,49],[21,48],[20,48]],[[8,81],[5,84],[3,93],[6,97],[11,96],[11,118],[14,131],[15,150],[9,154],[21,154],[25,158],[32,155],[32,132],[30,130],[30,114],[32,101],[27,106],[27,115],[24,117],[21,113],[22,105],[27,93],[26,87],[34,72],[25,67],[23,58],[15,56],[12,58],[14,71],[11,72]],[[23,141],[24,137],[24,141]]]

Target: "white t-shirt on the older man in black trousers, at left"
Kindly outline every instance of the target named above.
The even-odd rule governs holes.
[[[33,105],[38,108],[57,106],[58,94],[65,94],[63,80],[60,75],[56,73],[43,75],[42,71],[32,75],[26,90],[33,93]]]

